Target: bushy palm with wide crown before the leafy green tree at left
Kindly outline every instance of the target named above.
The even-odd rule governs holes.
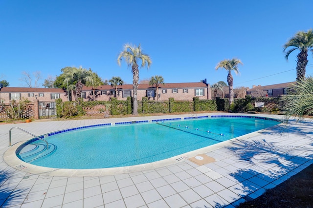
[[[84,83],[92,82],[92,72],[90,70],[82,68],[81,66],[79,68],[66,67],[63,70],[64,70],[65,77],[66,77],[64,80],[64,83],[76,82],[74,97],[75,97],[75,100],[77,100],[77,98],[81,98],[82,88],[84,86]]]

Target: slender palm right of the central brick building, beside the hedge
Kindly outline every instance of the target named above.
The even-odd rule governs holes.
[[[233,76],[231,75],[231,71],[235,71],[236,74],[239,74],[238,64],[243,65],[243,63],[239,59],[225,59],[219,62],[215,69],[224,68],[227,70],[227,83],[229,89],[229,106],[234,102],[234,90],[233,90]]]

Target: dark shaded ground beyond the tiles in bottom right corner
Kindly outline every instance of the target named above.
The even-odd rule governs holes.
[[[313,165],[238,208],[313,208]]]

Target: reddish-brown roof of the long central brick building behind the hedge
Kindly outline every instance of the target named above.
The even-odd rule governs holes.
[[[133,89],[133,84],[123,84],[118,85],[118,89]],[[205,83],[165,83],[165,84],[159,84],[159,88],[165,88],[165,89],[172,89],[172,88],[201,88],[201,87],[207,87]],[[155,89],[156,85],[149,85],[149,84],[138,84],[138,89]],[[96,90],[112,90],[114,89],[111,85],[101,85],[96,87]],[[89,91],[92,90],[91,86],[83,86],[83,91]]]

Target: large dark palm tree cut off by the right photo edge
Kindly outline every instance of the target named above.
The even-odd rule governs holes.
[[[299,31],[291,39],[284,44],[285,58],[288,60],[292,51],[299,49],[300,53],[297,55],[297,78],[296,81],[305,79],[306,66],[308,64],[308,51],[313,48],[313,31],[309,29],[307,32]],[[287,48],[292,47],[286,51]]]

